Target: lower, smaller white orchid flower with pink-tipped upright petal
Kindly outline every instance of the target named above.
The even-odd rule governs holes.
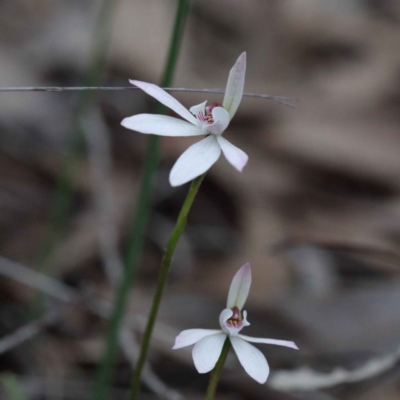
[[[261,351],[249,342],[275,344],[298,350],[294,342],[253,338],[239,334],[242,328],[250,325],[247,321],[247,312],[242,312],[249,294],[250,285],[250,264],[245,264],[232,280],[227,308],[222,310],[219,316],[221,330],[188,329],[182,331],[176,337],[173,349],[195,345],[192,352],[193,361],[200,374],[209,372],[215,367],[227,338],[229,338],[245,371],[259,383],[266,382],[269,375],[269,366]]]

